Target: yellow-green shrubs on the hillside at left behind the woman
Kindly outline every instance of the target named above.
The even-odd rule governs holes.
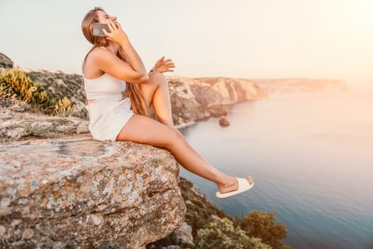
[[[68,116],[73,113],[73,106],[67,97],[55,100],[48,91],[38,83],[33,83],[28,74],[19,68],[1,72],[0,97],[5,100],[16,98],[31,105],[33,110],[50,115]]]

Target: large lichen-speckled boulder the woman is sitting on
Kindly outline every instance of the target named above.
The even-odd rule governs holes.
[[[0,144],[0,248],[144,248],[182,226],[179,166],[132,142]]]

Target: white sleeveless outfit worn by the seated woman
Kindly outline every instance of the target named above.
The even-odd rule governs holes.
[[[130,109],[131,101],[123,99],[126,89],[123,80],[104,73],[99,78],[87,79],[83,75],[84,89],[90,117],[90,133],[97,140],[115,141],[117,135],[135,113]]]

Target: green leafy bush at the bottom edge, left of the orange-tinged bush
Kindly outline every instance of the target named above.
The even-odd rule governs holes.
[[[216,219],[206,228],[199,229],[195,238],[196,248],[203,249],[269,249],[260,238],[250,238],[241,228],[233,227],[228,218]]]

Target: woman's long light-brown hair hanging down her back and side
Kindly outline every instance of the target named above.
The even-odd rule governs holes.
[[[82,21],[82,31],[85,38],[93,44],[93,47],[90,48],[90,51],[85,55],[82,64],[82,73],[84,73],[85,68],[85,61],[87,60],[88,55],[93,49],[102,46],[108,46],[109,42],[105,37],[101,36],[93,36],[93,23],[98,23],[98,15],[97,11],[104,11],[100,7],[95,7],[88,11],[88,13],[84,16]],[[123,51],[122,47],[120,47],[119,51],[117,52],[117,57],[121,60],[125,61],[126,63],[130,63],[130,60],[125,55],[125,51]],[[148,108],[146,104],[146,100],[144,95],[142,95],[142,91],[140,89],[139,84],[135,83],[127,83],[127,88],[125,91],[126,95],[130,97],[131,100],[131,108],[132,110],[139,115],[148,115]]]

